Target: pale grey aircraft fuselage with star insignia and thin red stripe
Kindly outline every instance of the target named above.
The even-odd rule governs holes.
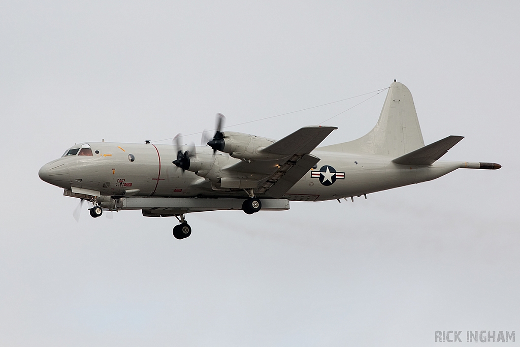
[[[104,196],[125,196],[129,191],[131,195],[153,197],[247,197],[242,190],[214,190],[203,177],[177,168],[172,164],[177,155],[173,146],[106,142],[89,144],[92,156],[63,156],[45,164],[40,170],[40,177],[64,189],[89,189],[99,191]],[[81,148],[81,145],[71,148]],[[240,161],[229,157],[227,153],[217,152],[213,157],[212,150],[207,147],[197,147],[197,153],[209,161],[220,162],[220,165]],[[405,166],[395,164],[391,158],[383,156],[319,150],[311,154],[320,158],[316,168],[305,174],[284,194],[284,198],[322,201],[360,196],[430,181],[460,168],[462,164],[437,161],[427,166]],[[323,166],[326,168],[322,169]]]

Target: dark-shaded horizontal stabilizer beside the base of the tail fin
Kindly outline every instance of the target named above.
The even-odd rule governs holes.
[[[392,161],[401,165],[430,165],[444,156],[451,147],[457,145],[463,138],[464,136],[450,135]]]

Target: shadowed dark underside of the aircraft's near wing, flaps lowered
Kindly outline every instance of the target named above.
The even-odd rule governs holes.
[[[262,150],[280,155],[280,159],[241,161],[225,170],[231,175],[264,175],[266,178],[258,182],[258,194],[280,198],[320,160],[310,152],[335,129],[334,126],[303,127]]]

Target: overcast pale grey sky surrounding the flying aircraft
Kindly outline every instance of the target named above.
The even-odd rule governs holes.
[[[0,0],[1,344],[417,346],[436,345],[435,330],[520,333],[518,18],[516,1]],[[216,112],[232,125],[394,79],[426,143],[463,135],[446,159],[503,168],[354,203],[191,214],[183,241],[174,219],[140,211],[85,210],[76,223],[78,201],[37,176],[74,143],[197,133]],[[324,144],[368,132],[384,97],[328,122],[339,130]],[[362,100],[230,129],[281,138]]]

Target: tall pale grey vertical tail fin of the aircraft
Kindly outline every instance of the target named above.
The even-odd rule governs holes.
[[[406,85],[394,82],[388,88],[378,123],[365,136],[318,150],[400,157],[424,147],[424,140]]]

